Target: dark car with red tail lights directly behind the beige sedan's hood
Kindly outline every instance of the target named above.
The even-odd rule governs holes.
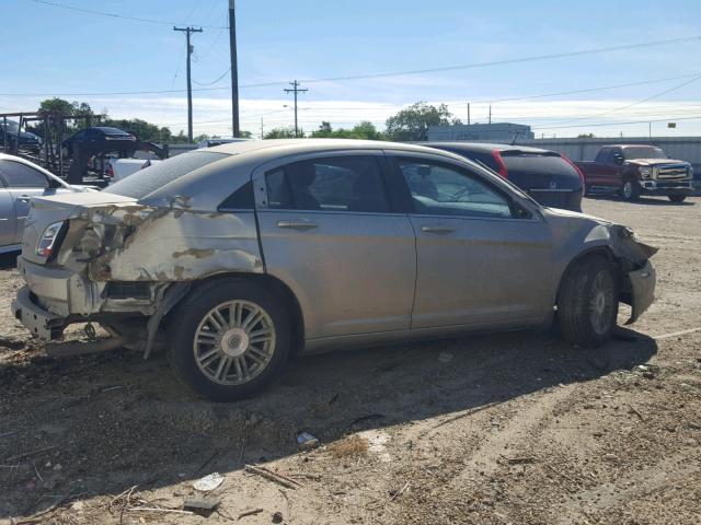
[[[524,145],[422,142],[476,161],[551,208],[582,211],[584,174],[566,156]]]

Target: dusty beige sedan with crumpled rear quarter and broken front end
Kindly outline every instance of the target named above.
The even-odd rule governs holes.
[[[165,349],[232,400],[292,354],[543,328],[602,345],[652,303],[655,248],[543,208],[453,153],[359,140],[202,149],[103,191],[33,201],[13,313],[54,354]]]

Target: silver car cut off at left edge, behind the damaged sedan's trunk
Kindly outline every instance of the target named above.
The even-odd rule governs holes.
[[[22,249],[32,197],[92,190],[89,186],[70,186],[20,156],[0,153],[0,254]]]

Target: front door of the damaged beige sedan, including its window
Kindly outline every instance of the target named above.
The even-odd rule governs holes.
[[[542,220],[462,164],[403,153],[390,159],[411,194],[416,232],[412,328],[542,320],[552,306],[552,242]]]

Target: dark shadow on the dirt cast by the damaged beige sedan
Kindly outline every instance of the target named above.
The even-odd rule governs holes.
[[[300,431],[329,443],[595,380],[656,350],[631,330],[599,350],[527,332],[382,347],[299,359],[275,386],[235,404],[195,398],[163,357],[124,351],[58,362],[4,350],[0,517],[41,511],[55,501],[46,494],[117,494],[238,470],[295,454]]]

